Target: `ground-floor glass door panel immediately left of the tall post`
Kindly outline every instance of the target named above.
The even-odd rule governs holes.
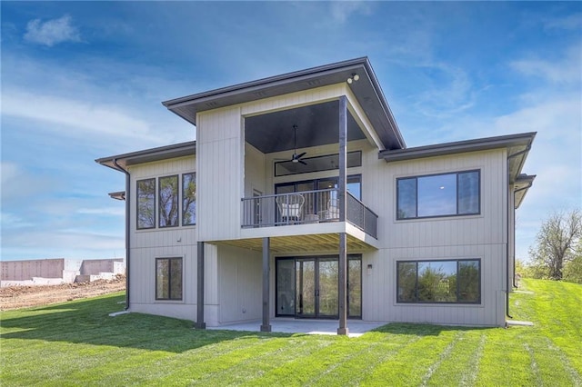
[[[336,317],[337,311],[337,260],[317,260],[316,314]]]

